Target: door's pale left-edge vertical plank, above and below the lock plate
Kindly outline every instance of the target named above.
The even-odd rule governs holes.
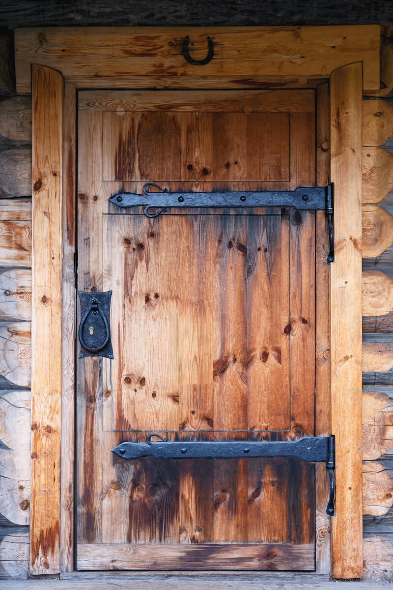
[[[78,290],[103,291],[101,116],[78,114]],[[77,540],[100,543],[103,478],[103,399],[108,359],[78,360]]]

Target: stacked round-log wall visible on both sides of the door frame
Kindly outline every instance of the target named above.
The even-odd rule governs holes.
[[[0,32],[0,43],[8,50],[11,42],[8,32]],[[381,65],[381,91],[364,97],[363,103],[364,575],[371,581],[393,581],[390,38],[382,39]],[[31,97],[13,92],[12,73],[0,63],[0,578],[26,577],[29,555]]]

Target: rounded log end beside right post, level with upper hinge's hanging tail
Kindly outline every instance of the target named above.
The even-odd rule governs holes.
[[[362,207],[362,256],[378,257],[393,242],[393,216],[378,205]]]

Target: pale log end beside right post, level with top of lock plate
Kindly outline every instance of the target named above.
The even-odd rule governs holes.
[[[362,316],[385,316],[393,310],[393,278],[379,270],[362,273]]]

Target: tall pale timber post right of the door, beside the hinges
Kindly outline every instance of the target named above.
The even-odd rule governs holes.
[[[330,269],[332,434],[336,516],[332,575],[361,578],[362,563],[362,64],[333,71],[331,181],[335,262]]]

